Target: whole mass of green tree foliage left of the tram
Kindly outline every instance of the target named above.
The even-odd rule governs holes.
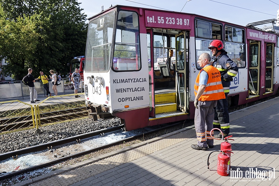
[[[4,74],[21,80],[28,68],[34,76],[50,69],[68,73],[67,63],[84,55],[86,15],[77,0],[1,0],[0,4]]]

